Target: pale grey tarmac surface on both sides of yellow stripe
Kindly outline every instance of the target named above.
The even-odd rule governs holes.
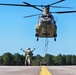
[[[76,75],[76,66],[46,66],[52,75]],[[41,66],[0,66],[0,75],[39,75]]]

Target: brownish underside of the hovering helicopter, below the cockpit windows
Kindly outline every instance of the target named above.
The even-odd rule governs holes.
[[[38,34],[38,37],[54,37],[54,34],[56,34],[56,27],[54,24],[50,23],[42,23],[37,24],[36,26],[36,33]]]

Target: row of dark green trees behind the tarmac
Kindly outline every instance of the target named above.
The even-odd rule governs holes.
[[[76,65],[76,55],[62,55],[57,56],[46,54],[45,57],[41,55],[31,56],[32,65],[38,66],[40,62],[46,62],[47,65]],[[9,65],[9,66],[20,66],[24,65],[25,56],[20,55],[19,53],[4,53],[0,56],[0,65]]]

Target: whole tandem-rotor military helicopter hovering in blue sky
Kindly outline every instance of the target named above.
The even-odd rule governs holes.
[[[0,5],[6,5],[6,6],[23,6],[23,7],[33,7],[39,11],[42,12],[42,14],[35,14],[35,15],[29,15],[25,16],[24,18],[32,17],[32,16],[37,16],[39,15],[38,23],[36,25],[36,34],[35,36],[37,37],[37,41],[39,40],[39,37],[42,38],[54,38],[54,41],[56,41],[57,37],[57,26],[56,26],[56,21],[54,20],[54,17],[52,13],[57,13],[57,14],[63,14],[63,13],[75,13],[75,11],[59,11],[59,12],[50,12],[50,7],[55,7],[55,8],[71,8],[71,7],[63,7],[63,6],[52,6],[54,4],[63,2],[65,0],[60,0],[57,2],[54,2],[52,4],[48,5],[31,5],[27,2],[23,2],[24,4],[5,4],[5,3],[0,3]],[[38,8],[38,7],[43,7],[43,10]]]

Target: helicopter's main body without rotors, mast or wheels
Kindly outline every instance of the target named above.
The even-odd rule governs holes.
[[[57,26],[52,15],[41,14],[36,25],[36,37],[57,37]]]

